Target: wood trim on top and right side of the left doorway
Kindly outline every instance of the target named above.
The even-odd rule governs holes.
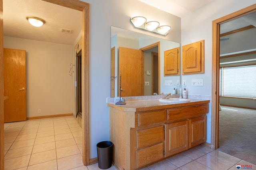
[[[90,4],[79,0],[44,0],[53,4],[82,11],[82,160],[90,164],[89,118],[89,8]]]

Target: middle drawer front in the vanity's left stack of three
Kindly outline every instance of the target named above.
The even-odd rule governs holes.
[[[164,141],[164,126],[137,131],[137,148],[148,147]]]

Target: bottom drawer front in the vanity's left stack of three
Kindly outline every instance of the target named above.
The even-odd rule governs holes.
[[[164,143],[137,151],[137,168],[164,158]]]

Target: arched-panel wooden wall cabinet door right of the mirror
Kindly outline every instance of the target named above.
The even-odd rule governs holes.
[[[182,74],[204,73],[204,40],[182,46]]]

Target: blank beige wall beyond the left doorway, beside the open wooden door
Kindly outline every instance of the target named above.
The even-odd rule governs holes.
[[[27,117],[73,113],[72,45],[4,36],[4,48],[26,50]]]

